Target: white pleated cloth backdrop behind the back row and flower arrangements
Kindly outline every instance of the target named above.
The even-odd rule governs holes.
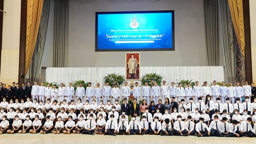
[[[100,83],[104,86],[104,76],[106,74],[117,73],[125,74],[125,67],[106,67],[106,68],[46,68],[46,82],[64,83],[66,86],[72,80],[84,80],[92,82],[94,86]],[[224,80],[223,66],[163,66],[163,67],[140,67],[140,75],[146,73],[157,73],[164,76],[163,80],[167,85],[176,80],[198,81],[201,86],[204,81],[210,82]],[[134,81],[134,83],[137,81]],[[138,81],[139,82],[139,81]],[[128,85],[130,81],[128,80]],[[139,82],[140,86],[140,82]],[[140,86],[142,87],[142,86]],[[121,98],[120,98],[121,99]]]

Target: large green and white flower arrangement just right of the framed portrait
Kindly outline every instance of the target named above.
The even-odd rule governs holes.
[[[151,74],[144,74],[141,77],[141,84],[144,86],[146,82],[148,82],[148,86],[154,86],[154,82],[156,82],[156,84],[158,86],[161,86],[162,83],[162,78],[164,78],[163,76],[160,76],[159,74],[156,73],[151,73]]]

